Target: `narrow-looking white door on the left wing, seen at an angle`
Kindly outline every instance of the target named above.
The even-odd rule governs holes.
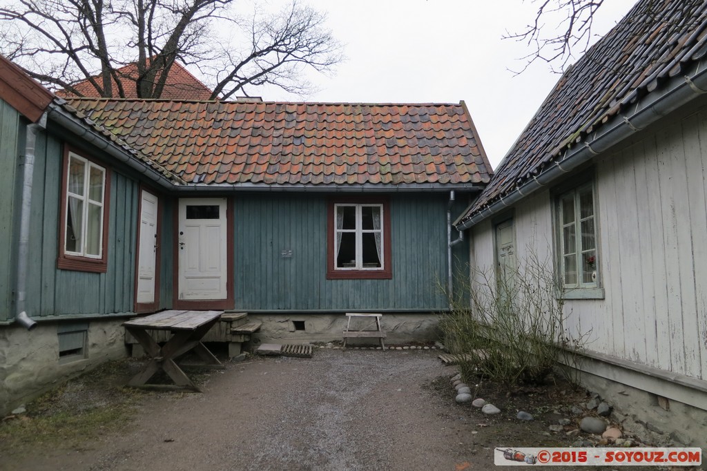
[[[143,191],[140,204],[140,247],[137,270],[137,302],[155,302],[157,266],[157,205],[154,194]]]

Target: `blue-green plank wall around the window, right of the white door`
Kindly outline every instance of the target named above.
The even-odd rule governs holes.
[[[326,197],[235,197],[235,307],[444,309],[445,211],[443,195],[391,197],[392,279],[327,280]]]

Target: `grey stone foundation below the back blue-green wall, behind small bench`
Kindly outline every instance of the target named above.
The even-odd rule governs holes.
[[[440,315],[434,313],[384,313],[381,326],[387,337],[386,345],[413,342],[434,342],[440,339]],[[254,344],[343,341],[341,332],[346,329],[344,314],[248,314],[249,320],[257,320],[263,325],[251,337]],[[351,320],[351,327],[362,326],[362,319]],[[370,320],[373,322],[373,319]],[[303,330],[301,330],[303,327]],[[378,344],[378,339],[349,339],[356,344]]]

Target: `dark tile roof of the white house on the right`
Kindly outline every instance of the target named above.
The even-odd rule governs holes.
[[[571,66],[463,223],[542,173],[585,136],[707,55],[707,2],[641,0]]]

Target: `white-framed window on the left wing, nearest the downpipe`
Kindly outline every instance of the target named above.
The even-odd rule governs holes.
[[[105,168],[69,153],[66,172],[66,255],[100,259],[103,255]]]

